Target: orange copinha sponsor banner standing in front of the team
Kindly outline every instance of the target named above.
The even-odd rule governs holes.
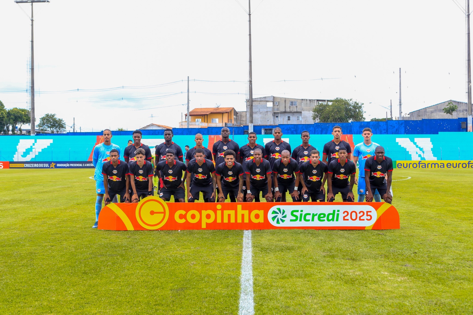
[[[379,230],[399,228],[399,214],[385,202],[110,203],[100,212],[102,230]]]

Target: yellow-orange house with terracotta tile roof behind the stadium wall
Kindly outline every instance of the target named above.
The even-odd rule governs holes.
[[[233,107],[202,107],[194,108],[189,116],[190,128],[224,127],[236,124],[238,112]],[[179,122],[179,127],[187,128],[187,121]]]

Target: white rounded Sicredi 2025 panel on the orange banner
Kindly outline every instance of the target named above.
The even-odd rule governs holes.
[[[284,205],[268,211],[275,227],[369,227],[376,219],[369,205]]]

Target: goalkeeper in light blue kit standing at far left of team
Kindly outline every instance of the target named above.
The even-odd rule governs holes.
[[[116,149],[118,155],[120,156],[120,147],[111,142],[112,140],[112,131],[105,129],[102,133],[104,142],[97,144],[94,148],[94,153],[92,155],[92,164],[95,166],[95,189],[97,192],[97,198],[95,201],[95,224],[92,228],[97,228],[98,225],[98,215],[100,210],[102,210],[102,201],[104,200],[105,186],[104,186],[104,175],[102,174],[102,166],[105,162],[110,161],[110,151]],[[116,202],[116,199],[114,200]]]

